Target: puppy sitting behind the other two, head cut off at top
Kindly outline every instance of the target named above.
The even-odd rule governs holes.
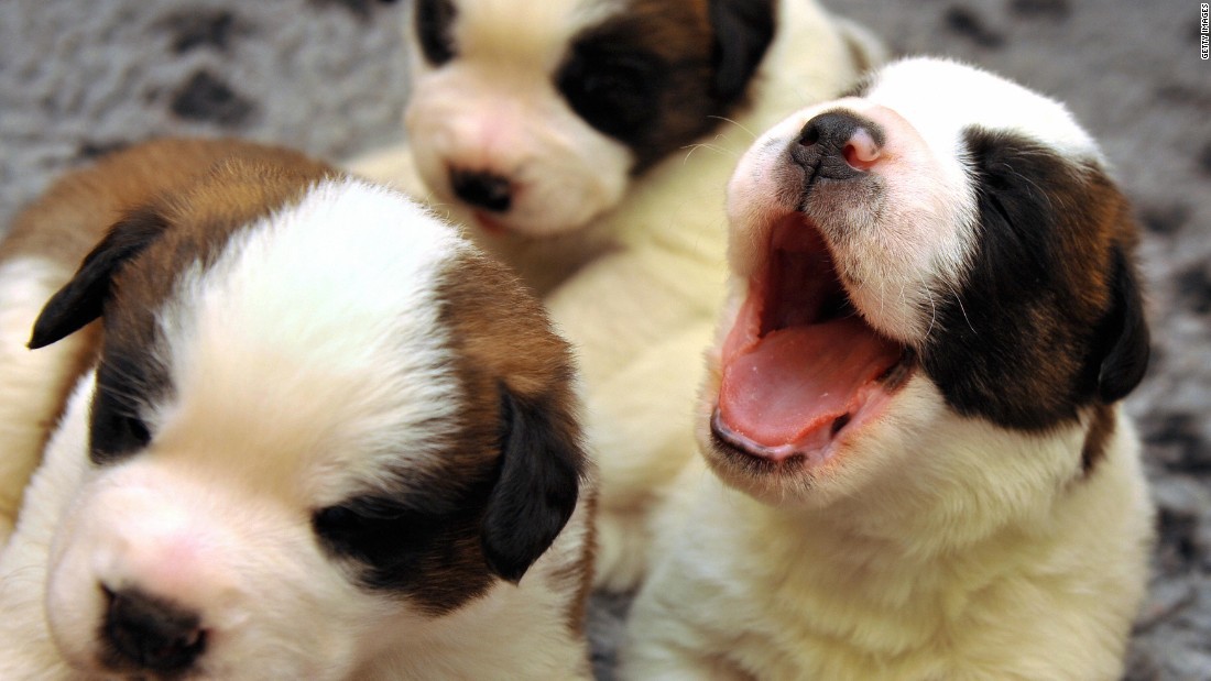
[[[352,168],[427,196],[546,294],[609,452],[597,575],[629,588],[656,490],[693,457],[718,190],[751,131],[836,97],[882,47],[811,0],[419,0],[408,25],[411,148]]]

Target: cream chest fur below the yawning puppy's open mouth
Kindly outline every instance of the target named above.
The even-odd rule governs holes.
[[[1079,428],[1005,438],[909,387],[920,410],[872,434],[880,450],[861,454],[883,471],[861,495],[768,506],[683,477],[624,677],[1119,677],[1150,531],[1123,412],[1098,478],[1075,483],[1033,462],[1072,461]]]

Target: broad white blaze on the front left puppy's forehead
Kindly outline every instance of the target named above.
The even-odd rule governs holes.
[[[436,287],[463,248],[411,200],[352,179],[235,235],[161,316],[171,396],[154,446],[270,479],[331,469],[334,489],[308,496],[441,448],[460,394]]]

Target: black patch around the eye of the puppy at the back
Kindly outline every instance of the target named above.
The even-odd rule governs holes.
[[[656,114],[659,73],[652,59],[642,56],[582,50],[561,69],[557,86],[589,125],[627,139],[641,133]]]

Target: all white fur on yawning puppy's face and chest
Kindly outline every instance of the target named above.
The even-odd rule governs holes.
[[[1097,155],[1058,104],[936,60],[891,65],[862,99],[775,126],[729,187],[733,285],[698,414],[704,451],[719,346],[759,244],[796,210],[779,191],[771,150],[785,151],[808,120],[832,109],[885,129],[883,165],[872,172],[886,180],[886,196],[869,215],[860,201],[831,206],[838,224],[820,230],[842,269],[865,267],[861,283],[846,285],[862,317],[908,345],[929,333],[930,292],[962,281],[977,238],[959,127],[1012,120],[1012,129],[1068,156]],[[830,231],[843,224],[851,229],[844,239]],[[1152,506],[1138,438],[1124,410],[1114,414],[1104,458],[1086,474],[1079,452],[1090,412],[1038,434],[1005,429],[955,414],[917,370],[878,419],[839,439],[827,467],[754,481],[731,471],[721,479],[699,462],[677,480],[661,520],[653,573],[631,611],[624,676],[1117,679],[1147,583]]]

